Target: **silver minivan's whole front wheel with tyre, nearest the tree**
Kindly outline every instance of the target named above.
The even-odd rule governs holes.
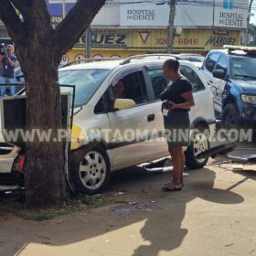
[[[109,157],[101,146],[82,148],[72,153],[70,171],[77,191],[100,193],[110,180]]]

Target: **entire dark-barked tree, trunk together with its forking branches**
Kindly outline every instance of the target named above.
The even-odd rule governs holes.
[[[55,205],[66,196],[58,67],[62,55],[91,24],[105,0],[78,0],[53,29],[45,0],[0,0],[0,18],[16,44],[27,88],[27,130],[51,133],[27,142],[25,185],[28,205]],[[23,16],[16,15],[14,5]],[[36,133],[37,134],[37,133]]]

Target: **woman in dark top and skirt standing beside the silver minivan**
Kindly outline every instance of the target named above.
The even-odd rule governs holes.
[[[173,163],[173,180],[162,187],[165,191],[179,191],[183,187],[185,165],[184,146],[190,143],[188,112],[195,106],[192,85],[179,72],[179,62],[167,59],[163,66],[166,79],[171,80],[160,95],[165,123],[165,136]],[[166,133],[168,133],[166,135]]]

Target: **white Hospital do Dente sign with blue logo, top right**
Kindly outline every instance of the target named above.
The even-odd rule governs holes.
[[[221,0],[215,7],[215,27],[246,28],[248,2],[244,0]]]

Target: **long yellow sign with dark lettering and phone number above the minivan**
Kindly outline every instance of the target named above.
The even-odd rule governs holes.
[[[223,45],[240,45],[240,30],[183,29],[174,40],[176,53],[206,53]],[[135,54],[166,52],[166,29],[93,29],[92,58],[127,58]],[[68,53],[69,61],[85,58],[85,37]]]

